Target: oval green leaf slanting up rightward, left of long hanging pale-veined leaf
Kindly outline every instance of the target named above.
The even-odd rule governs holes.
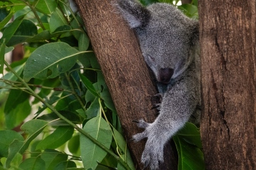
[[[70,140],[74,132],[71,126],[59,126],[52,134],[38,143],[36,149],[55,149]]]

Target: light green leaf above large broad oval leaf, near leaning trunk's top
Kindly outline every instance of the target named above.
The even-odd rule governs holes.
[[[59,8],[52,13],[50,16],[50,33],[53,33],[58,27],[63,25],[68,25],[68,21],[63,16],[63,13],[60,11]]]

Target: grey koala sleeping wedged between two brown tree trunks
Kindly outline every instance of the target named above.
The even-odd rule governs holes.
[[[141,132],[136,142],[147,138],[142,163],[159,169],[164,145],[190,120],[198,123],[201,105],[198,21],[170,4],[144,7],[136,0],[117,0],[119,13],[134,29],[146,64],[158,81],[162,96],[159,115],[153,123],[136,121]]]

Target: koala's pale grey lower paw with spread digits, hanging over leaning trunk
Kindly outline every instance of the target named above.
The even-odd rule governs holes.
[[[164,162],[164,145],[161,140],[161,134],[151,123],[146,123],[144,120],[137,121],[139,128],[145,128],[144,132],[134,135],[132,138],[135,141],[147,138],[144,152],[142,153],[142,163],[144,166],[149,166],[150,169],[159,169],[159,162]]]

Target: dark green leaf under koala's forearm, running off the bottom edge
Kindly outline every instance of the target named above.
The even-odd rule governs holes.
[[[195,145],[191,145],[182,137],[175,135],[173,137],[176,148],[178,150],[178,170],[183,169],[205,169],[203,160],[203,152]]]

